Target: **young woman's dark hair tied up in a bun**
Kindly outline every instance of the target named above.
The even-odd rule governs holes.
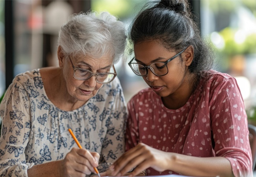
[[[213,66],[213,52],[210,45],[202,40],[192,17],[187,0],[149,2],[135,17],[129,40],[133,44],[159,40],[165,48],[176,52],[191,45],[194,58],[189,72],[202,76],[202,71],[210,70]]]

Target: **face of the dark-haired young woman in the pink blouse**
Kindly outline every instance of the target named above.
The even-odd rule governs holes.
[[[143,41],[134,45],[135,61],[142,65],[150,65],[154,62],[164,62],[177,54],[170,52],[157,41]],[[148,70],[148,75],[143,76],[144,81],[161,97],[169,96],[173,93],[180,93],[186,89],[184,82],[186,65],[181,61],[184,53],[167,64],[168,74],[156,76]]]

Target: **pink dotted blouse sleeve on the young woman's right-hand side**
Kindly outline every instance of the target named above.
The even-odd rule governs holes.
[[[230,161],[235,176],[248,176],[252,174],[252,155],[247,115],[239,87],[231,77],[215,90],[217,97],[210,101],[215,154]]]

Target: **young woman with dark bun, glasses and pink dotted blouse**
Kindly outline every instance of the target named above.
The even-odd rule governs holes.
[[[212,57],[186,0],[151,3],[130,31],[129,66],[150,88],[128,102],[124,153],[112,175],[252,176],[247,116],[236,80]],[[129,150],[130,149],[130,150]]]

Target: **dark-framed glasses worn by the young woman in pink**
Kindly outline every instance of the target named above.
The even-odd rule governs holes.
[[[167,61],[155,62],[146,66],[146,65],[141,65],[139,63],[132,63],[132,61],[135,59],[135,57],[133,57],[133,59],[128,63],[128,65],[132,68],[132,71],[138,76],[147,76],[148,69],[150,69],[156,76],[164,76],[168,73],[167,64],[173,59],[175,59],[176,57],[178,57],[186,49],[187,47],[184,48],[181,52],[171,57],[170,59],[168,59]]]

